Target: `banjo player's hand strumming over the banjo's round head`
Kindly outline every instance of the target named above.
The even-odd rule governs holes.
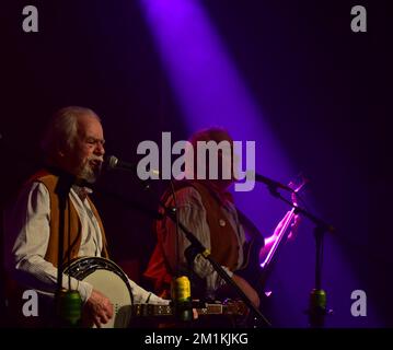
[[[113,305],[104,294],[93,290],[84,305],[83,316],[88,324],[94,323],[101,328],[102,324],[106,324],[113,317]]]

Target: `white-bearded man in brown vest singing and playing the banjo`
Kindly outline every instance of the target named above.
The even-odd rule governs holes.
[[[7,267],[20,287],[34,289],[39,295],[53,299],[57,289],[60,237],[60,198],[56,186],[62,175],[70,175],[84,184],[94,183],[103,163],[104,142],[101,120],[91,109],[66,107],[50,120],[42,142],[47,166],[26,182],[7,218],[5,235],[11,243]],[[89,198],[90,192],[85,185],[70,188],[65,213],[65,233],[69,237],[65,240],[62,258],[108,257],[104,228]],[[71,244],[66,244],[68,242]],[[92,284],[74,278],[70,284],[71,290],[81,295],[85,318],[100,327],[113,317],[111,301]],[[136,303],[169,303],[132,281],[130,285]],[[63,277],[63,288],[69,288],[68,277]]]

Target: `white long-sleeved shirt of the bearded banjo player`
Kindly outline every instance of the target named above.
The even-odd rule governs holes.
[[[101,256],[103,242],[100,225],[88,199],[83,201],[71,189],[69,195],[81,221],[81,245],[78,257]],[[45,260],[49,243],[50,199],[46,186],[33,183],[26,186],[9,215],[5,217],[5,266],[12,276],[23,285],[37,290],[38,293],[53,296],[57,289],[57,268]],[[78,290],[85,302],[93,285],[70,279],[71,289]],[[134,302],[167,304],[163,300],[129,280]],[[62,285],[68,289],[68,276],[63,275]]]

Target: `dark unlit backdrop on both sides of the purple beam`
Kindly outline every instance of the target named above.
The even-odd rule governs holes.
[[[38,8],[39,33],[22,31],[26,4]],[[388,1],[201,4],[275,137],[313,178],[320,213],[340,228],[334,240],[379,315],[367,326],[392,326]],[[368,33],[350,32],[355,4],[368,10]],[[188,137],[138,1],[5,1],[0,20],[2,206],[39,165],[43,126],[59,107],[93,108],[107,153],[127,160],[162,131]],[[96,192],[113,258],[140,272],[154,243],[141,207],[155,201],[124,174],[104,174],[100,186],[131,201]]]

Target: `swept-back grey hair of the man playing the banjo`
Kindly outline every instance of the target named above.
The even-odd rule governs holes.
[[[82,115],[91,115],[100,120],[99,116],[92,109],[85,107],[69,106],[55,113],[45,130],[41,143],[47,156],[56,155],[56,152],[61,148],[73,147],[78,135],[78,119]]]

